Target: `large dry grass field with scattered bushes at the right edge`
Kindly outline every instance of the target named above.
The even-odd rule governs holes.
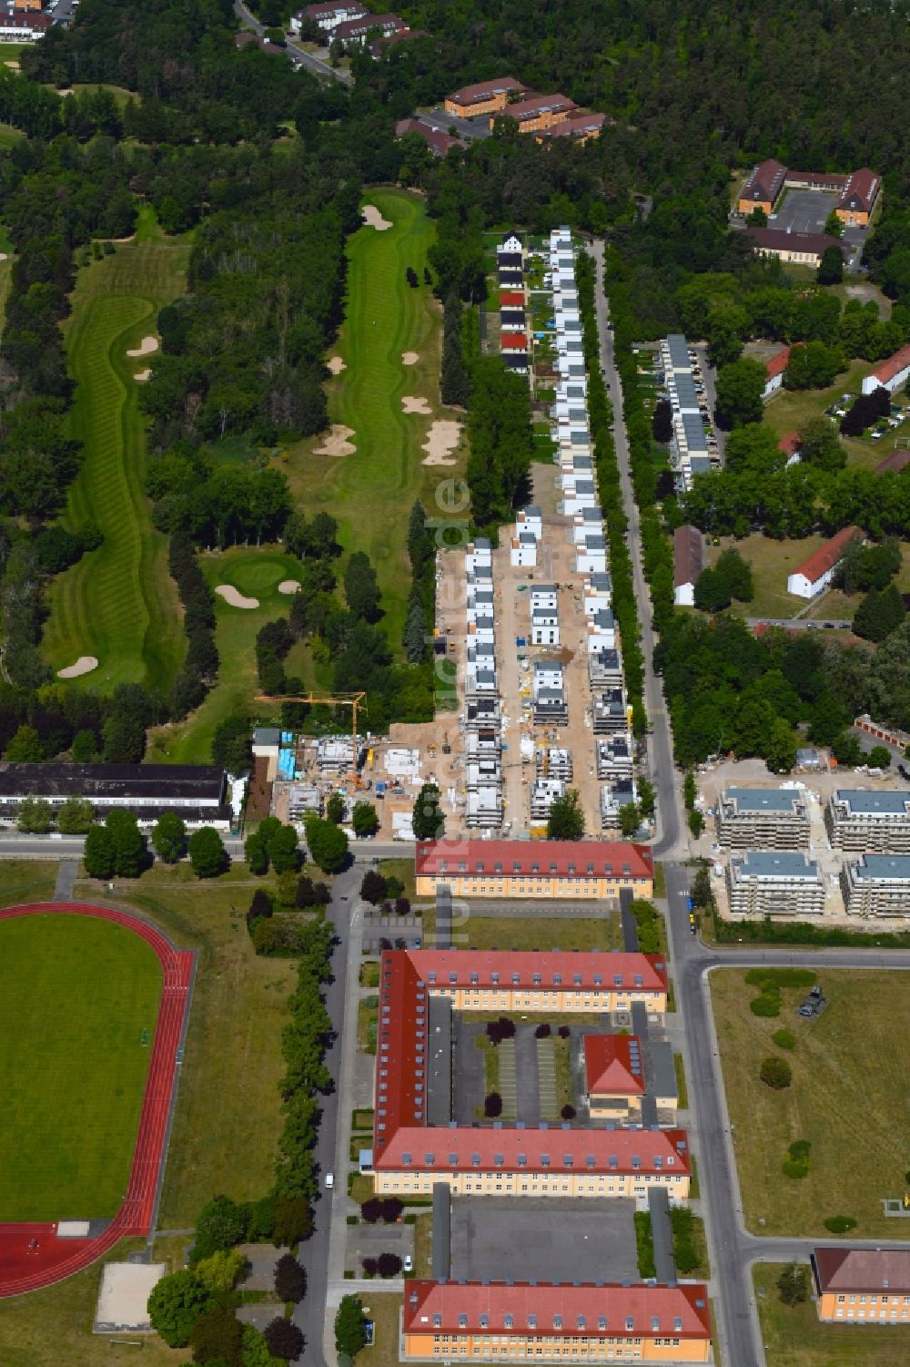
[[[855,1239],[899,1239],[900,1221],[883,1215],[881,1199],[903,1195],[910,1167],[907,975],[824,969],[818,982],[829,1005],[809,1023],[794,1014],[805,990],[784,988],[780,1016],[762,1018],[749,1009],[758,988],[741,969],[711,975],[746,1225],[829,1239],[824,1221],[850,1215]],[[780,1028],[797,1036],[792,1051],[773,1044]],[[758,1079],[772,1054],[792,1068],[782,1091]],[[798,1139],[812,1144],[809,1174],[791,1178],[782,1163]]]

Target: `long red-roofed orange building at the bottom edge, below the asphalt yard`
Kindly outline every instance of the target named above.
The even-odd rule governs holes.
[[[708,1288],[409,1281],[403,1359],[711,1362]]]

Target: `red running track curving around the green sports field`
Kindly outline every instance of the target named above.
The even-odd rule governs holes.
[[[142,1114],[133,1151],[133,1167],[123,1204],[113,1221],[97,1239],[57,1239],[56,1223],[0,1223],[0,1297],[38,1290],[82,1271],[126,1234],[148,1234],[154,1213],[154,1192],[164,1158],[168,1109],[176,1073],[176,1051],[189,1006],[193,977],[193,951],[178,950],[171,942],[138,916],[87,902],[34,902],[7,906],[0,920],[12,916],[97,916],[102,921],[126,925],[146,940],[161,962],[164,987],[154,1029],[149,1076],[142,1098]],[[86,1211],[86,1218],[90,1217]],[[31,1247],[31,1244],[36,1247]]]

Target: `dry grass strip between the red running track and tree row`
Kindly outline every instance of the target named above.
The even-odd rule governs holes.
[[[119,905],[152,917],[182,949],[199,950],[160,1229],[191,1228],[219,1192],[264,1196],[275,1178],[281,1031],[297,977],[292,961],[253,953],[243,913],[262,886],[268,880],[250,879],[245,865],[210,882],[187,864],[118,882]],[[90,899],[97,889],[78,882],[75,897]]]

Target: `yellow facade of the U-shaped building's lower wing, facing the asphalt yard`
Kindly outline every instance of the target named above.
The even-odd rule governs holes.
[[[454,1196],[646,1196],[652,1185],[665,1187],[675,1204],[689,1199],[687,1173],[589,1173],[588,1170],[530,1172],[496,1169],[481,1172],[374,1172],[377,1195],[432,1195],[436,1182],[447,1182]]]

